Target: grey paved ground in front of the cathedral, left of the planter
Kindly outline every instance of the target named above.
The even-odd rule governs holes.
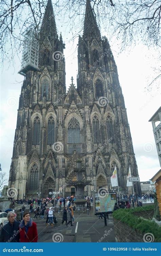
[[[91,210],[89,216],[87,216],[87,213],[80,216],[75,214],[73,226],[68,225],[68,227],[65,223],[61,224],[61,213],[56,213],[55,216],[58,223],[54,226],[46,226],[46,218],[44,220],[33,219],[37,223],[38,242],[53,242],[53,235],[56,233],[62,234],[63,242],[99,242],[102,237],[102,242],[115,242],[111,214],[109,220],[107,220],[107,226],[104,224],[104,219],[94,216],[93,210]],[[107,235],[104,235],[106,233]]]

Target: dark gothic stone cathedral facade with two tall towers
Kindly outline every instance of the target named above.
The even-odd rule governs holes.
[[[81,168],[82,180],[90,184],[84,195],[100,188],[117,191],[110,183],[117,166],[120,193],[132,193],[126,187],[129,166],[132,176],[138,176],[138,169],[124,97],[108,40],[101,37],[89,0],[78,40],[77,88],[72,78],[68,92],[64,48],[48,0],[37,48],[38,68],[28,65],[20,72],[24,82],[9,187],[16,188],[15,199],[40,193],[45,198],[53,191],[76,195],[72,181],[77,181]],[[140,184],[136,185],[141,193]]]

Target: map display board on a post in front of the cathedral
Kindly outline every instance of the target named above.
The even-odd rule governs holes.
[[[114,204],[117,203],[116,192],[108,192],[104,194],[93,193],[94,214],[113,212]]]

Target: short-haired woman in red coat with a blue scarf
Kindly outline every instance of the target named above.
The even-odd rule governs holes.
[[[20,242],[37,242],[37,225],[30,218],[30,213],[25,212],[23,220],[19,225],[20,228]]]

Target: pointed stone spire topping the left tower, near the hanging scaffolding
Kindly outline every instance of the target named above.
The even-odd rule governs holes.
[[[52,1],[48,0],[46,10],[43,16],[40,35],[45,38],[46,36],[50,36],[51,38],[58,38],[56,23],[55,23],[55,15],[53,12]]]

